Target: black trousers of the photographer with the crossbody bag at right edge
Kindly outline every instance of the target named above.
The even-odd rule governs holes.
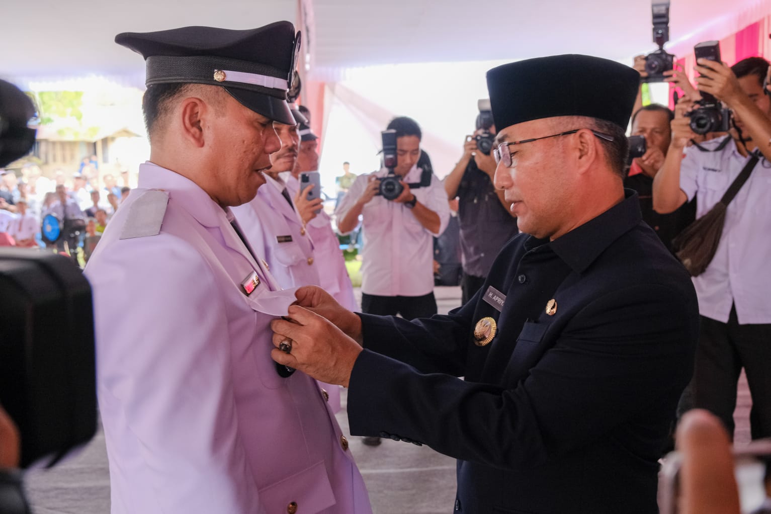
[[[733,436],[736,388],[742,368],[752,395],[752,438],[771,436],[771,324],[728,323],[701,317],[692,389],[693,407],[718,416]]]

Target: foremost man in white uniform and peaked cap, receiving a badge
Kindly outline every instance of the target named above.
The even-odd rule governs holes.
[[[123,33],[146,59],[150,162],[86,267],[112,511],[371,512],[316,382],[271,360],[287,314],[230,207],[264,186],[299,36]],[[291,348],[286,348],[291,351]]]

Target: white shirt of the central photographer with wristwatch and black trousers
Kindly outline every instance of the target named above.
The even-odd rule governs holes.
[[[406,183],[420,182],[422,170],[412,166],[404,177]],[[388,170],[375,172],[385,176]],[[345,217],[362,196],[369,176],[356,177],[343,197],[335,215]],[[447,227],[449,205],[444,186],[431,176],[427,187],[412,189],[420,203],[439,215],[439,230],[431,233],[417,220],[412,210],[381,196],[374,197],[362,210],[364,248],[362,250],[362,292],[379,296],[423,296],[433,291],[433,237]]]

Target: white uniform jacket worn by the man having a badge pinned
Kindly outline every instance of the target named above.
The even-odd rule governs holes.
[[[315,381],[270,358],[294,291],[195,183],[146,163],[139,186],[86,267],[112,512],[371,512]]]

